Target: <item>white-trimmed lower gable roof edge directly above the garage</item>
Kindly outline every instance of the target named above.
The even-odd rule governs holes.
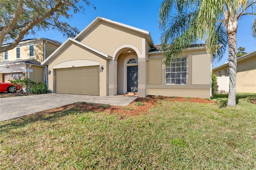
[[[80,43],[72,38],[68,38],[62,45],[60,45],[60,47],[58,47],[46,60],[44,60],[44,62],[42,62],[41,65],[48,65],[48,63],[50,61],[52,61],[52,59],[54,59],[60,52],[62,52],[70,43],[76,43],[76,44],[79,44],[79,45],[82,45],[83,47],[87,48],[87,49],[90,49],[104,57],[106,57],[106,59],[112,59],[112,57],[110,57],[109,55],[106,55],[105,53],[102,53],[100,51],[98,51],[97,49],[94,49],[92,47],[89,47],[88,45],[85,45],[83,43]]]

